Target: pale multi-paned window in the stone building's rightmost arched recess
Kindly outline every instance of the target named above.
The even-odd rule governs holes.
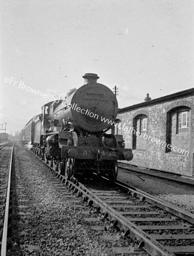
[[[188,133],[189,131],[189,112],[178,112],[177,113],[177,133]]]

